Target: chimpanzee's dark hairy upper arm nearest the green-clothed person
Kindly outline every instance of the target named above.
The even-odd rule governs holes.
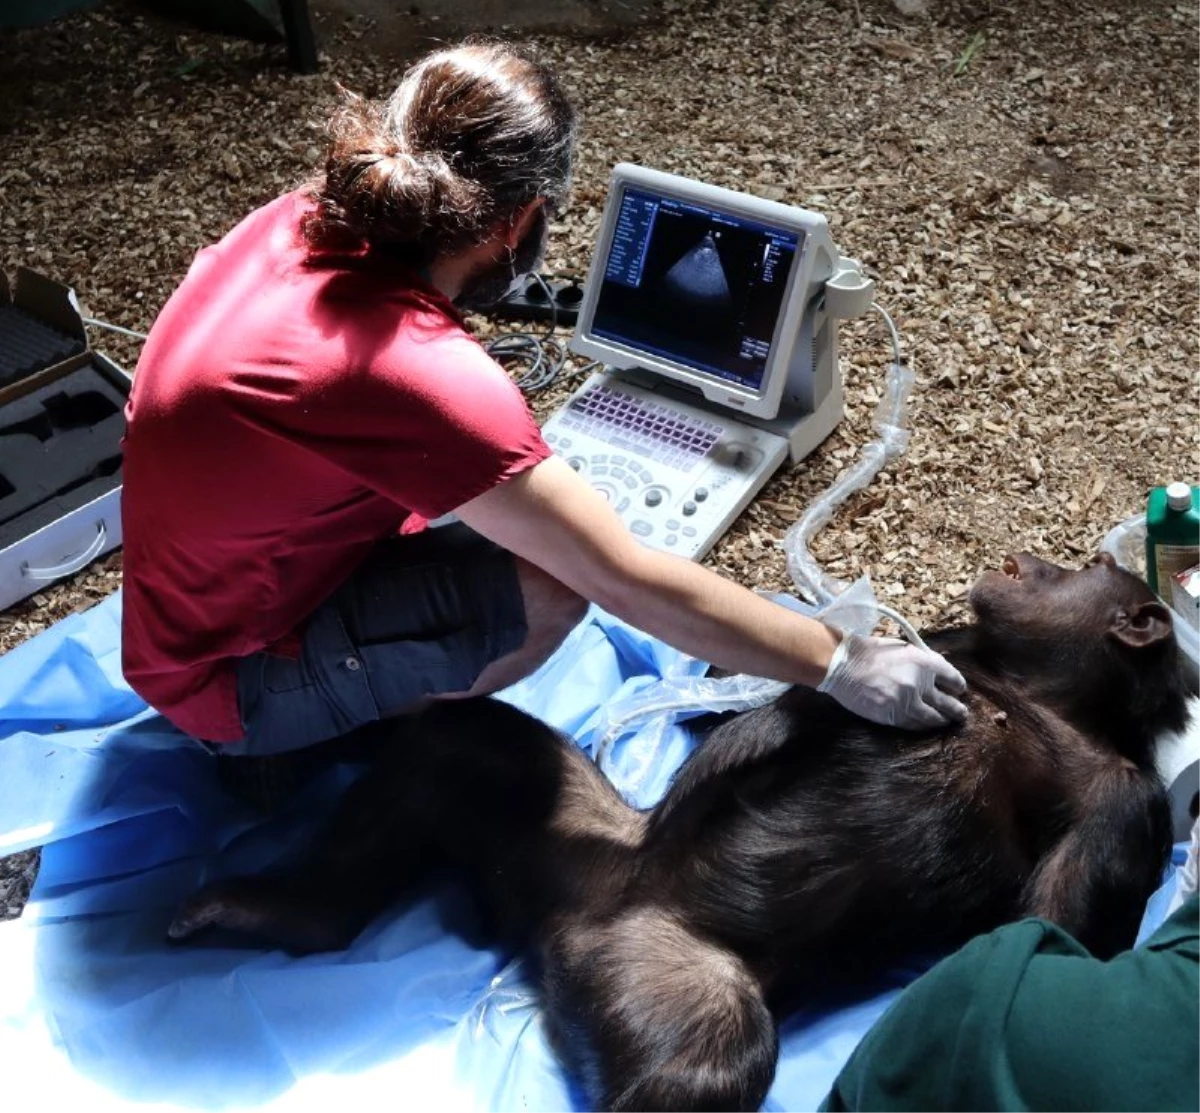
[[[1098,958],[1133,946],[1171,849],[1170,807],[1153,772],[1114,758],[1080,793],[1078,818],[1025,890],[1025,913],[1051,920]]]

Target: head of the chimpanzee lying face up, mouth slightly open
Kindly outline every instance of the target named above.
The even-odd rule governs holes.
[[[1006,556],[971,589],[980,651],[1130,757],[1186,718],[1171,613],[1100,553],[1080,570]]]

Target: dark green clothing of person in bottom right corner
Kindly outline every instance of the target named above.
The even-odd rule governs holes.
[[[1108,963],[1026,920],[910,986],[822,1111],[1198,1109],[1198,1030],[1200,900]]]

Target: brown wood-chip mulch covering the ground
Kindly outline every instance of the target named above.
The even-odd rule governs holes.
[[[329,26],[314,77],[121,4],[7,34],[0,266],[146,330],[199,247],[304,179],[336,82],[394,85],[404,59],[370,22]],[[547,271],[584,272],[628,160],[817,209],[877,278],[913,437],[817,539],[828,571],[941,622],[1006,552],[1079,561],[1150,487],[1200,482],[1195,2],[667,0],[619,36],[539,41],[584,125]],[[870,439],[888,355],[875,320],[844,329],[847,420],[708,564],[788,586],[779,542]],[[116,554],[0,615],[0,652],[119,584]],[[20,904],[5,870],[28,880],[29,859],[0,861],[0,915]]]

